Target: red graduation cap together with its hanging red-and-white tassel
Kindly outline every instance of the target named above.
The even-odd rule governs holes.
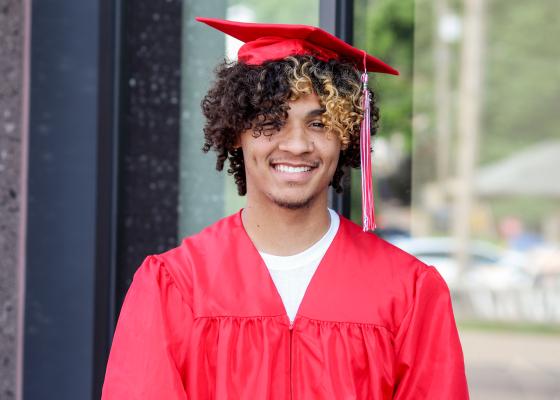
[[[367,54],[364,50],[357,49],[314,26],[259,24],[204,17],[196,17],[196,20],[245,42],[237,53],[238,60],[245,64],[261,65],[267,61],[281,60],[288,56],[311,55],[323,61],[334,59],[352,62],[358,69],[363,66],[364,92],[362,106],[364,118],[360,129],[362,219],[364,231],[375,229],[367,72],[381,72],[392,75],[398,75],[399,72],[378,58]]]

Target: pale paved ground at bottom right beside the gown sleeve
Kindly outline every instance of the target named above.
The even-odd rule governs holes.
[[[472,400],[560,400],[560,336],[460,332]]]

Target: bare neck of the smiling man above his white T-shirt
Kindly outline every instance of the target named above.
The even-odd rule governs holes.
[[[257,250],[278,256],[306,250],[321,239],[330,226],[326,198],[296,210],[277,205],[271,209],[248,199],[241,218]]]

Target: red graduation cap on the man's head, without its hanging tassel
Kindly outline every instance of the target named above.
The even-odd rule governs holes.
[[[249,65],[261,65],[293,55],[312,55],[323,61],[350,61],[358,69],[365,61],[365,69],[369,72],[399,74],[378,58],[314,26],[258,24],[204,17],[196,17],[196,20],[244,42],[238,59]]]

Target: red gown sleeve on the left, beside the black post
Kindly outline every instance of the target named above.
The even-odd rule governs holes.
[[[124,300],[107,363],[102,400],[187,400],[192,311],[165,265],[149,256]]]

